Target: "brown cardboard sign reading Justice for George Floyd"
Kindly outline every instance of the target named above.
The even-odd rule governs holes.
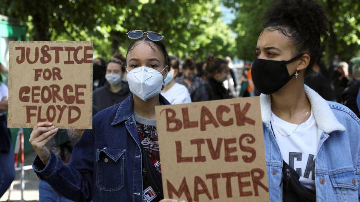
[[[92,128],[92,42],[10,42],[8,127]]]

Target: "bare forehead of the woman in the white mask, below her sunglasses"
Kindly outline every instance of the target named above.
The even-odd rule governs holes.
[[[164,58],[159,50],[159,48],[153,44],[148,42],[138,42],[136,43],[127,54],[127,60],[131,58],[137,58],[140,60],[147,60],[148,58],[158,58],[163,62]]]

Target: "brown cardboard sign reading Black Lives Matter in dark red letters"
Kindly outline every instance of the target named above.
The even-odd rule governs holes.
[[[260,99],[156,107],[164,197],[269,201]]]

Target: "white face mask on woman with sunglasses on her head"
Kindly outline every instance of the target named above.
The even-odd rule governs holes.
[[[165,69],[164,67],[162,71]],[[146,101],[161,92],[164,78],[161,72],[149,67],[137,67],[131,71],[127,71],[127,81],[130,91],[137,97]]]

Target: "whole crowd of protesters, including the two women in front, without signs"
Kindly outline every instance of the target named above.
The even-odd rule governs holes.
[[[163,199],[155,106],[258,95],[270,200],[358,201],[360,58],[336,55],[326,67],[323,8],[312,0],[291,2],[268,8],[256,59],[244,64],[238,80],[230,58],[180,60],[151,31],[128,32],[125,56],[94,59],[93,129],[39,122],[31,133],[40,202],[172,202]],[[14,178],[7,96],[0,80],[0,196]],[[149,141],[154,144],[143,144]],[[149,189],[151,199],[143,194]]]

